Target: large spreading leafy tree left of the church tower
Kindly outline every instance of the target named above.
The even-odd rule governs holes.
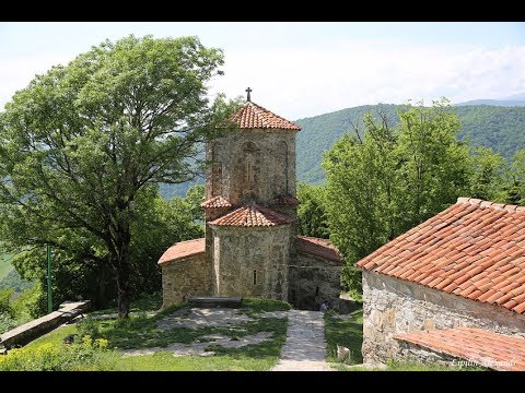
[[[202,164],[199,143],[226,130],[232,107],[207,98],[222,64],[222,52],[197,37],[129,36],[16,92],[0,114],[0,203],[11,243],[51,243],[112,266],[126,317],[141,205],[154,184],[191,179]]]

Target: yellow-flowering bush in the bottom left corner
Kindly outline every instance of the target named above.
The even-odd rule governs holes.
[[[107,340],[84,336],[74,344],[46,343],[0,356],[0,371],[69,371],[83,369],[107,352]]]

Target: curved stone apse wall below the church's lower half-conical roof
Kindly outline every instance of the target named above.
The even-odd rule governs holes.
[[[213,296],[288,300],[290,225],[210,227]]]

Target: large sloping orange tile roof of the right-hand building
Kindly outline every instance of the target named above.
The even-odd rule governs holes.
[[[524,313],[525,207],[459,198],[357,265]]]

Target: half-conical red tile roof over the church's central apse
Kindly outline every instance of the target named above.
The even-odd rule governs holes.
[[[290,224],[291,222],[292,219],[285,214],[275,212],[268,207],[249,204],[235,209],[233,212],[230,212],[209,224],[236,227],[260,227]]]

